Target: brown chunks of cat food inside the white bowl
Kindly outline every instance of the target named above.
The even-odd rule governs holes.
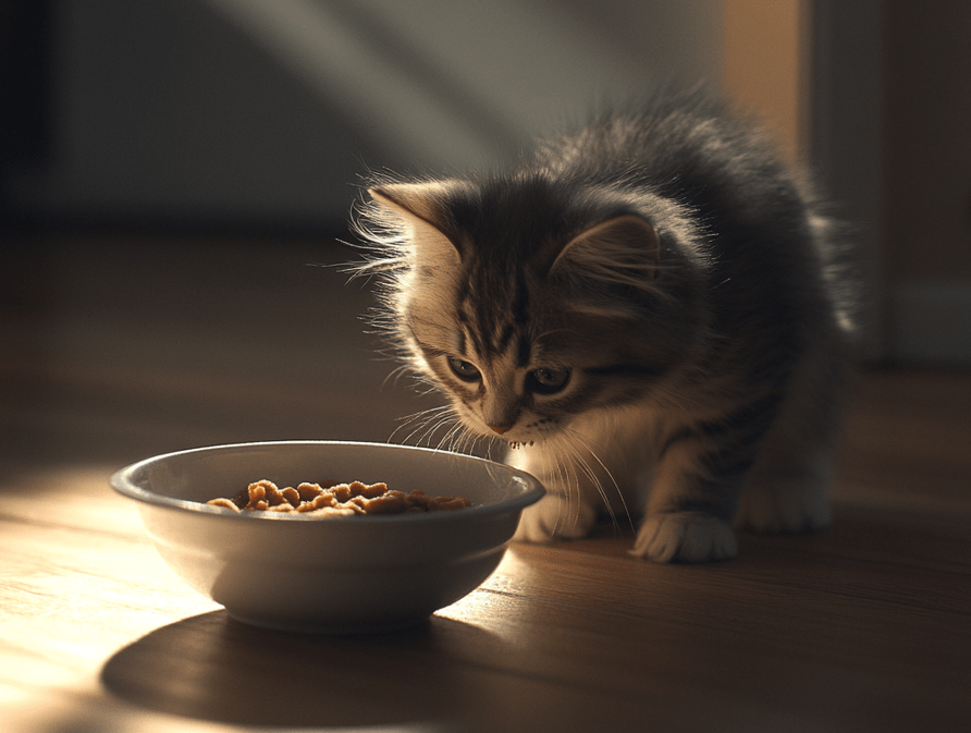
[[[206,502],[234,512],[296,512],[310,516],[355,516],[357,514],[403,514],[440,512],[471,505],[465,497],[429,497],[423,491],[394,491],[386,484],[300,484],[280,489],[262,479],[250,484],[232,499]]]

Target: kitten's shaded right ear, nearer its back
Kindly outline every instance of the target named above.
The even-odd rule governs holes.
[[[651,290],[661,243],[646,219],[625,215],[594,224],[563,248],[551,273]]]

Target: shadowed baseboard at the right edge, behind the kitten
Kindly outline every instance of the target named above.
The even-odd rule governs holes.
[[[894,361],[971,365],[971,282],[898,282],[887,305]]]

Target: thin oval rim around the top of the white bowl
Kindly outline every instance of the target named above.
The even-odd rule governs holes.
[[[231,450],[231,449],[247,449],[247,448],[273,448],[280,445],[320,445],[320,447],[329,447],[329,448],[339,448],[342,445],[354,445],[360,448],[379,448],[379,449],[401,449],[407,451],[419,451],[425,453],[433,453],[433,454],[444,454],[455,456],[460,459],[462,461],[470,461],[475,463],[481,463],[486,465],[496,466],[502,469],[511,477],[516,478],[523,481],[526,485],[526,489],[516,494],[515,497],[511,497],[508,499],[504,499],[503,501],[499,501],[491,504],[472,504],[471,506],[467,506],[462,511],[455,512],[422,512],[422,513],[411,513],[411,514],[376,514],[376,515],[356,515],[354,517],[343,517],[343,516],[330,516],[327,517],[325,524],[331,524],[333,522],[341,522],[341,524],[347,523],[348,526],[356,525],[370,525],[373,523],[415,523],[415,522],[447,522],[447,521],[462,521],[462,520],[479,520],[484,518],[491,515],[497,514],[507,514],[509,512],[518,512],[530,504],[539,501],[543,494],[545,493],[545,489],[543,485],[533,475],[521,471],[519,468],[515,468],[514,466],[509,466],[504,463],[499,463],[496,461],[491,461],[489,459],[479,457],[477,455],[468,455],[465,453],[455,453],[453,451],[446,451],[437,448],[425,448],[421,445],[405,445],[400,443],[378,443],[378,442],[368,442],[368,441],[354,441],[354,440],[260,440],[260,441],[250,441],[250,442],[235,442],[235,443],[217,443],[212,445],[201,445],[198,448],[188,448],[179,451],[170,451],[168,453],[160,453],[158,455],[153,455],[147,459],[143,459],[135,463],[132,463],[124,468],[116,471],[109,478],[109,484],[111,487],[120,494],[133,499],[142,504],[149,504],[152,506],[172,509],[182,512],[189,512],[192,514],[197,515],[206,515],[206,516],[219,516],[224,517],[230,521],[242,521],[242,522],[273,522],[273,521],[283,521],[283,522],[310,522],[315,524],[324,524],[324,521],[319,516],[307,516],[300,513],[292,513],[292,512],[230,512],[226,509],[220,506],[213,506],[204,502],[192,501],[188,499],[176,499],[174,497],[167,497],[161,493],[157,493],[155,491],[150,491],[148,489],[144,489],[139,486],[136,486],[132,481],[132,476],[137,472],[143,471],[146,466],[149,466],[155,463],[161,463],[165,460],[173,459],[181,455],[187,455],[192,453],[205,453],[217,450]]]

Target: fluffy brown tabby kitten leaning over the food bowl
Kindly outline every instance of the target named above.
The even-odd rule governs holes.
[[[548,494],[516,539],[643,512],[631,552],[816,529],[852,330],[833,228],[763,135],[664,93],[509,171],[376,175],[356,222],[407,365]],[[650,489],[646,492],[646,489]]]

